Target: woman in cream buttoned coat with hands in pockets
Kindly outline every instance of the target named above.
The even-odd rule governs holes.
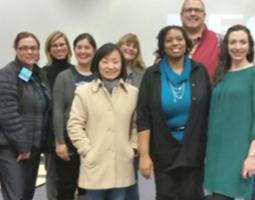
[[[124,200],[134,184],[137,89],[125,82],[120,49],[100,47],[92,61],[96,79],[74,96],[68,135],[81,158],[79,187],[87,200]]]

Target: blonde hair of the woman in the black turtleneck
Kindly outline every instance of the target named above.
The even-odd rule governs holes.
[[[53,57],[50,53],[50,49],[51,49],[51,45],[53,42],[55,42],[56,40],[58,40],[59,38],[64,38],[65,40],[65,43],[66,43],[66,46],[67,46],[67,49],[68,49],[68,53],[67,53],[67,61],[70,62],[71,61],[71,57],[72,57],[72,50],[71,50],[71,47],[70,47],[70,43],[68,41],[68,38],[67,36],[63,33],[63,32],[60,32],[60,31],[54,31],[52,32],[46,39],[46,42],[45,42],[45,54],[46,54],[46,57],[47,57],[47,65],[50,65],[52,63],[52,60],[53,60]]]

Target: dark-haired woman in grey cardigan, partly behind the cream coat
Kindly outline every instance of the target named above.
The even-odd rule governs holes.
[[[53,128],[57,146],[59,200],[73,200],[78,188],[80,158],[67,135],[66,126],[74,91],[94,79],[91,62],[96,52],[96,42],[90,34],[82,33],[74,39],[73,51],[77,64],[59,73],[53,89]],[[84,198],[84,195],[85,191],[78,188],[78,199]]]

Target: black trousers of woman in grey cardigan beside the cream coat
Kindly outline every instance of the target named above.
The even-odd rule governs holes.
[[[80,170],[78,154],[70,155],[69,161],[64,161],[56,156],[56,170],[58,200],[73,200],[76,189],[78,189],[79,195],[85,194],[85,190],[78,188]]]

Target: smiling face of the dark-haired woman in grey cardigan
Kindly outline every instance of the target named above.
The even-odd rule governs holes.
[[[82,39],[77,42],[74,47],[74,53],[79,65],[90,65],[95,55],[94,47],[89,43],[88,39]]]

